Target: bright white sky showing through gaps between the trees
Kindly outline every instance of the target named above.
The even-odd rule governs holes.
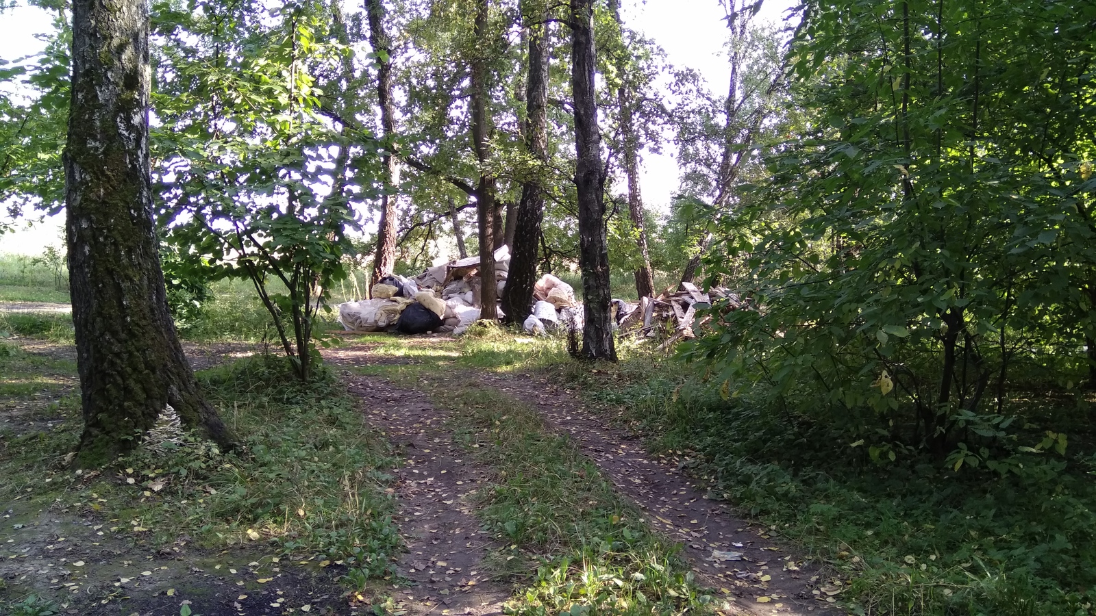
[[[756,21],[778,21],[795,2],[767,0]],[[670,64],[697,70],[715,92],[726,92],[729,71],[722,56],[727,28],[719,0],[625,0],[623,18],[628,27],[644,33],[666,52]],[[49,15],[30,7],[0,13],[0,58],[13,60],[43,48],[35,34],[49,32]],[[667,136],[672,137],[672,136]],[[648,152],[642,162],[642,192],[648,207],[665,210],[677,190],[677,164],[672,144],[661,155]],[[64,215],[31,229],[0,236],[0,253],[39,254],[47,246],[60,247]]]

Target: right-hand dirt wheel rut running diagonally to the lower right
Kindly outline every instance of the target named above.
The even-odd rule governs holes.
[[[479,380],[533,406],[551,430],[569,434],[653,529],[683,544],[701,583],[729,590],[743,613],[845,614],[825,601],[826,591],[837,586],[774,540],[776,532],[739,517],[727,502],[708,499],[680,469],[652,458],[638,438],[608,426],[571,392],[530,375],[481,374]],[[715,550],[739,552],[741,560],[717,561]]]

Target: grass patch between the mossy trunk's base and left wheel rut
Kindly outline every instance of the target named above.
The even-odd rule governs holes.
[[[392,573],[400,539],[385,469],[393,459],[333,375],[300,385],[284,358],[256,355],[199,373],[199,383],[243,454],[186,441],[138,450],[122,461],[125,481],[144,487],[133,518],[161,541],[189,533],[210,547],[270,544],[369,577]]]

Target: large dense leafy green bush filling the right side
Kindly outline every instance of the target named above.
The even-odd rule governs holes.
[[[745,269],[757,309],[717,305],[686,356],[726,395],[886,458],[1015,453],[1014,377],[1075,386],[1096,335],[1094,77],[1075,68],[1093,19],[1035,0],[811,3],[790,56],[798,139],[746,187],[765,198],[719,220],[709,261]]]

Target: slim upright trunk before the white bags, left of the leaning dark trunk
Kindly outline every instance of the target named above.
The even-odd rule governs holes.
[[[487,168],[491,156],[487,114],[490,89],[487,56],[487,49],[490,47],[488,9],[488,0],[477,0],[475,34],[479,45],[471,52],[471,121],[472,146],[476,149],[476,159],[480,163],[479,183],[476,186],[476,213],[480,236],[480,318],[493,321],[499,318],[494,280],[495,228],[499,228],[499,235],[502,235],[502,225],[498,220],[499,213],[494,203],[494,175]]]

